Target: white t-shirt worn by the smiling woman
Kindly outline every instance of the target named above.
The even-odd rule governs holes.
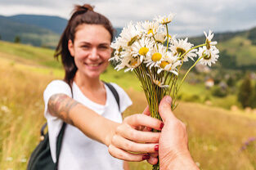
[[[110,89],[106,88],[106,105],[99,105],[90,101],[83,92],[80,91],[76,83],[73,83],[73,98],[89,109],[95,111],[101,116],[113,120],[115,122],[122,122],[121,113],[126,110],[132,101],[124,92],[124,90],[115,83],[111,83],[115,90],[119,93],[119,105],[115,100],[115,96]],[[53,162],[56,162],[56,139],[61,130],[63,121],[57,117],[52,116],[47,110],[47,103],[52,95],[63,93],[70,97],[70,86],[62,80],[54,80],[49,83],[43,93],[45,102],[44,116],[47,119],[50,148]],[[121,112],[121,113],[120,113]],[[95,127],[97,128],[97,127]],[[59,170],[120,170],[123,169],[123,161],[112,157],[106,145],[98,141],[94,141],[88,136],[84,135],[78,128],[67,124],[65,127],[64,137],[61,145],[61,154],[58,163]]]

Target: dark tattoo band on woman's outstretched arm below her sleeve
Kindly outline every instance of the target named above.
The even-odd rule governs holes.
[[[48,101],[48,110],[53,116],[63,119],[66,123],[74,125],[70,119],[70,110],[78,105],[79,102],[74,101],[70,96],[65,94],[56,94],[51,96]]]

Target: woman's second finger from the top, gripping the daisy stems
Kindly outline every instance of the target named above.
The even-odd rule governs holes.
[[[130,141],[146,142],[146,143],[158,143],[160,133],[159,132],[142,132],[131,128],[128,124],[119,126],[116,129],[116,135],[123,136]]]

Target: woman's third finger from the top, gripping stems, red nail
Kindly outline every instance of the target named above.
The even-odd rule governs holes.
[[[111,145],[119,149],[137,153],[155,153],[158,152],[158,143],[137,143],[125,139],[122,136],[115,135],[112,138]],[[157,149],[156,149],[157,148]]]

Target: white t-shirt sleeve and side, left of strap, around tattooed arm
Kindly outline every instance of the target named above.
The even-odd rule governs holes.
[[[63,121],[56,116],[52,116],[49,113],[47,105],[48,101],[51,96],[56,94],[65,94],[67,96],[72,97],[72,92],[70,86],[62,80],[54,80],[49,83],[46,89],[43,92],[43,100],[44,100],[44,116],[47,119],[47,127],[48,127],[48,134],[49,134],[49,141],[50,141],[50,148],[52,154],[52,160],[56,162],[56,141],[59,132],[61,131],[61,127]]]

